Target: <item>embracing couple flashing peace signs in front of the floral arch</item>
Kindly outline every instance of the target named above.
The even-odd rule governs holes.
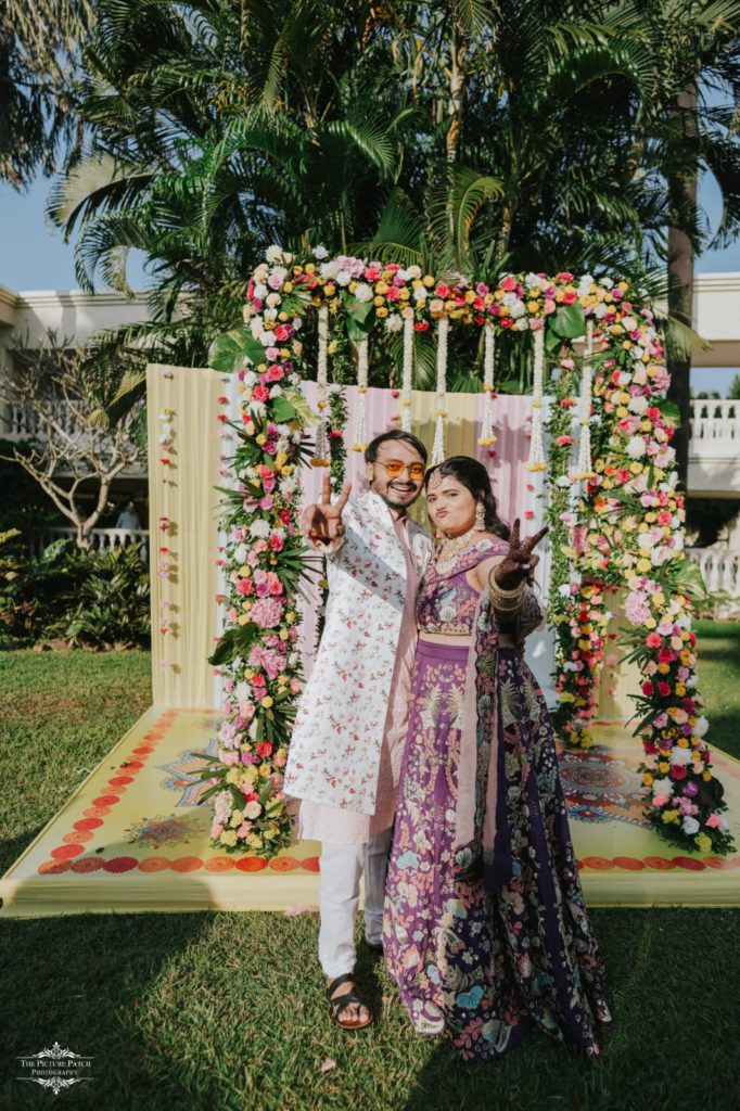
[[[427,472],[406,432],[368,446],[366,473],[367,493],[346,486],[333,504],[327,476],[301,519],[329,602],[284,782],[299,837],[321,841],[332,1018],[373,1020],[353,978],[364,871],[366,942],[419,1034],[487,1061],[538,1025],[598,1054],[603,970],[521,650],[542,618],[528,582],[547,530],[509,534],[479,462]],[[408,516],[423,488],[437,549]]]

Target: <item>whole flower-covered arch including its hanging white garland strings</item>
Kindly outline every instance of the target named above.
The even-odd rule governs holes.
[[[528,468],[547,471],[553,547],[550,622],[557,639],[556,724],[588,747],[599,672],[608,657],[609,598],[621,592],[621,645],[643,682],[632,697],[643,742],[646,813],[688,850],[728,852],[722,787],[704,740],[697,689],[691,594],[701,589],[683,552],[683,497],[677,491],[669,376],[652,312],[627,281],[561,272],[507,274],[496,284],[418,267],[366,261],[323,249],[298,259],[280,248],[249,280],[244,326],[212,347],[211,366],[238,376],[234,488],[226,497],[226,631],[211,662],[226,673],[227,718],[211,785],[213,843],[271,857],[290,843],[282,793],[301,661],[297,593],[308,552],[297,530],[304,428],[316,423],[301,393],[309,366],[318,382],[311,461],[341,478],[341,393],[329,391],[333,354],[347,381],[357,366],[360,403],[351,447],[364,448],[364,393],[373,338],[398,333],[400,423],[410,428],[414,336],[436,333],[437,403],[432,461],[444,453],[448,339],[478,329],[483,426],[494,442],[494,349],[502,333],[533,347],[533,412]],[[584,343],[576,341],[584,340]],[[356,360],[353,356],[356,354]],[[544,423],[543,388],[554,402]],[[226,401],[226,398],[223,399]],[[550,440],[544,457],[544,436]],[[576,454],[574,454],[576,453]]]

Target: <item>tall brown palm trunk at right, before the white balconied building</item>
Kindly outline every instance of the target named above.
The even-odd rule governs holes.
[[[679,94],[676,102],[676,116],[690,137],[697,131],[697,87],[690,84]],[[689,144],[691,146],[691,144]],[[697,204],[697,167],[688,164],[686,170],[669,182],[669,193],[673,210],[691,212]],[[691,238],[681,228],[668,229],[668,269],[669,293],[668,311],[681,323],[691,327],[693,321],[693,244]],[[671,350],[672,348],[672,350]],[[689,439],[691,437],[691,351],[683,344],[670,344],[668,350],[668,369],[671,374],[669,398],[676,402],[680,413],[681,427],[673,438],[676,448],[676,467],[679,482],[688,490],[689,472]]]

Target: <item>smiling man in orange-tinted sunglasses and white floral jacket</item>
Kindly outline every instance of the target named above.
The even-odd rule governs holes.
[[[414,436],[377,437],[364,454],[367,493],[351,487],[309,506],[301,531],[324,551],[329,601],[311,677],[298,705],[286,794],[300,799],[299,837],[321,841],[319,960],[332,1017],[358,1029],[372,1014],[357,993],[354,921],[364,869],[364,937],[382,949],[388,852],[396,811],[416,598],[431,556],[408,516],[423,486],[427,449]]]

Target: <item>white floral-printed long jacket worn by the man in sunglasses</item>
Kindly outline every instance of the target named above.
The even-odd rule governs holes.
[[[373,491],[350,499],[343,523],[344,541],[327,561],[327,619],[298,705],[284,791],[372,815],[383,734],[394,704],[391,683],[407,603],[407,562],[393,516]],[[408,520],[406,528],[421,578],[431,538],[416,521]]]

